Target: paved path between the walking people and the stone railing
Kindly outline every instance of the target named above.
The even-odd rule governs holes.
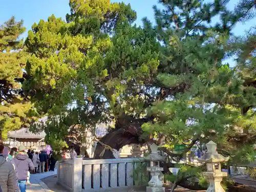
[[[46,173],[37,173],[30,175],[30,183],[31,185],[27,185],[27,192],[52,192],[49,187],[41,181],[41,179],[50,177],[57,174],[57,170],[55,172],[46,172]]]

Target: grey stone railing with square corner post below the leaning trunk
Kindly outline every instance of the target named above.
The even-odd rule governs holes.
[[[142,160],[139,158],[65,160],[58,162],[58,184],[72,192],[112,189],[120,191],[123,188],[133,188],[134,168]]]

